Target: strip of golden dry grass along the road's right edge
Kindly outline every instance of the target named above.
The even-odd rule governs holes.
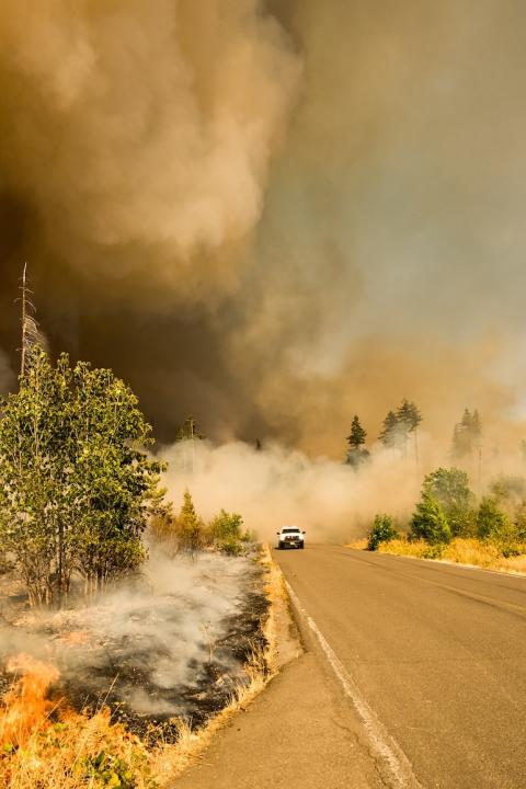
[[[478,539],[457,537],[447,546],[430,546],[423,540],[410,542],[407,539],[391,540],[379,547],[380,553],[408,556],[416,559],[435,559],[456,564],[469,564],[485,570],[526,573],[526,554],[504,557],[498,546]]]

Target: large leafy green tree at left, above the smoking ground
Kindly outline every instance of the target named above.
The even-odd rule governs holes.
[[[95,592],[136,569],[161,465],[130,389],[34,346],[0,408],[0,542],[31,602],[60,603],[76,572]]]

